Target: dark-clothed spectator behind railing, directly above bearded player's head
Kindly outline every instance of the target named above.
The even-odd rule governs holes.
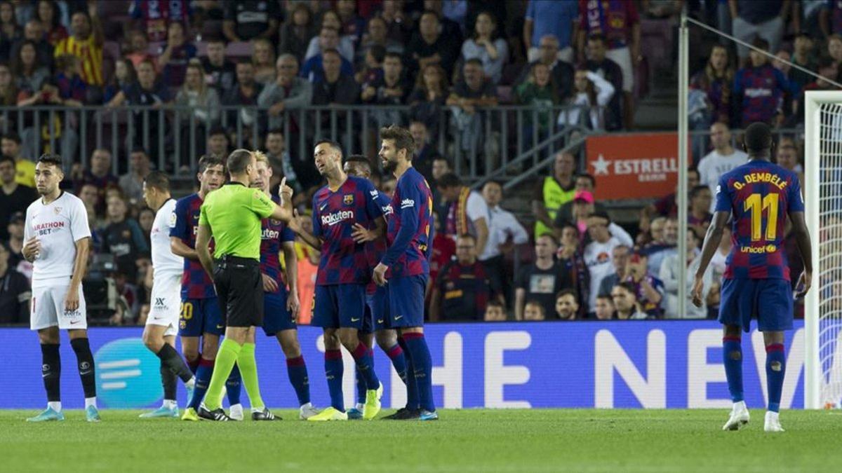
[[[394,107],[405,104],[410,85],[403,76],[403,63],[399,54],[387,52],[383,60],[383,77],[374,82],[365,83],[360,98],[364,104],[390,107],[376,110],[372,115],[373,125],[380,127],[388,123],[402,123],[402,114]]]

